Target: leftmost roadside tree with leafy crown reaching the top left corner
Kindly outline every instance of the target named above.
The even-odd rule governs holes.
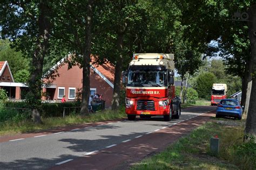
[[[41,105],[42,69],[48,54],[50,37],[50,2],[1,2],[0,24],[3,38],[10,37],[12,45],[31,58],[29,93],[26,101],[32,109],[35,123],[41,123],[38,110]]]

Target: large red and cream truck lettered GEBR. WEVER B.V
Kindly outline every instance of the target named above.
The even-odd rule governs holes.
[[[125,75],[125,112],[129,120],[134,120],[137,115],[142,118],[163,116],[165,121],[179,118],[180,100],[175,96],[173,86],[173,54],[133,54]]]

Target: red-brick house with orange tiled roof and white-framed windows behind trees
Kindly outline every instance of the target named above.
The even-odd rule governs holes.
[[[69,69],[64,59],[53,66],[51,70],[57,70],[58,76],[51,79],[51,86],[44,87],[46,94],[43,100],[60,101],[65,95],[66,101],[75,101],[83,87],[83,69],[73,66]],[[114,67],[105,62],[102,65],[91,63],[90,69],[90,95],[103,95],[105,108],[111,107],[113,96]]]

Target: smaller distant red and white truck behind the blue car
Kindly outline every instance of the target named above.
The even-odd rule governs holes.
[[[212,85],[211,105],[217,105],[227,98],[227,84],[214,83]]]

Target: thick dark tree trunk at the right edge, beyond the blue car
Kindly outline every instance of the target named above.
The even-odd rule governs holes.
[[[256,4],[251,5],[249,10],[248,34],[251,41],[252,61],[252,89],[245,125],[245,137],[256,138]]]

